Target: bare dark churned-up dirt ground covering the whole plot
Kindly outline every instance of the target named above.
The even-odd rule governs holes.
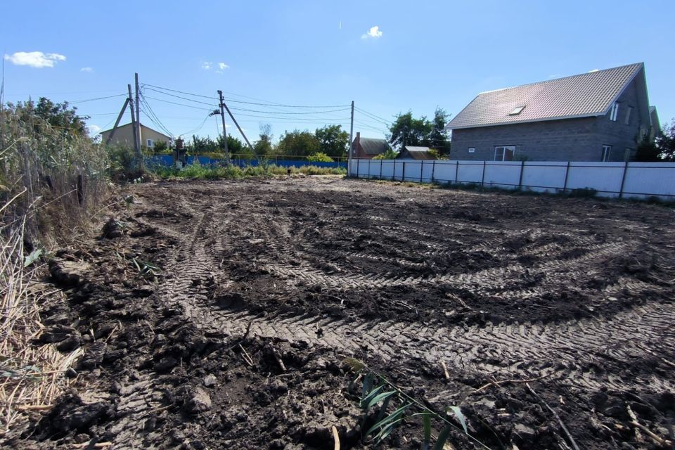
[[[669,207],[336,177],[119,200],[50,264],[70,302],[46,305],[42,339],[84,347],[77,390],[10,446],[333,449],[335,425],[370,448],[345,356],[460,406],[491,449],[674,441]],[[421,442],[409,418],[381,447]]]

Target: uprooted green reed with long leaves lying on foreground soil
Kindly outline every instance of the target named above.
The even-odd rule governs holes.
[[[442,430],[435,438],[436,443],[433,447],[435,450],[442,450],[444,448],[450,432],[453,430],[462,432],[475,444],[485,449],[489,448],[469,434],[466,419],[458,406],[449,406],[445,413],[439,413],[429,406],[425,406],[425,404],[414,399],[409,394],[406,394],[400,387],[387,380],[384,375],[366,366],[363,361],[355,358],[346,358],[344,362],[345,365],[356,373],[356,378],[354,378],[349,386],[350,390],[352,390],[359,379],[363,378],[361,397],[359,397],[359,406],[364,410],[363,425],[369,424],[369,419],[374,421],[364,433],[364,438],[371,436],[375,445],[387,439],[397,428],[397,425],[406,420],[406,418],[420,418],[422,420],[424,438],[423,449],[425,450],[431,448],[433,437],[432,423],[434,421],[440,423],[442,426]],[[375,408],[377,408],[376,414]],[[370,415],[371,410],[373,411],[374,419]],[[450,421],[452,416],[458,420],[460,426]]]

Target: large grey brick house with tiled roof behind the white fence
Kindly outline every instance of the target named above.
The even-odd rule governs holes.
[[[453,160],[628,161],[660,124],[637,63],[483,92],[446,129]]]

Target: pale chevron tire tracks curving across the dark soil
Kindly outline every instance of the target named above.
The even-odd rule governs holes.
[[[503,243],[510,239],[532,237],[533,242],[522,246],[523,255],[535,257],[534,264],[510,264],[491,267],[473,273],[435,274],[433,276],[409,276],[394,272],[357,272],[355,267],[342,265],[340,274],[328,274],[314,266],[323,257],[338,257],[342,262],[347,257],[374,259],[389,264],[392,269],[418,269],[410,257],[393,257],[369,252],[368,248],[354,250],[338,248],[333,254],[321,254],[306,243],[303,231],[309,224],[330,220],[324,215],[300,219],[286,214],[270,216],[264,210],[266,202],[256,198],[254,193],[243,193],[241,200],[250,199],[251,207],[246,214],[233,216],[224,214],[226,207],[211,207],[212,198],[195,202],[181,201],[181,209],[193,216],[191,221],[156,222],[139,219],[148,226],[156,226],[160,232],[178,240],[174,252],[169,254],[165,271],[172,274],[158,290],[157,295],[169,304],[180,305],[186,320],[205,332],[226,333],[233,337],[243,335],[250,325],[251,335],[264,338],[304,341],[338,349],[345,354],[367,349],[371,361],[397,361],[414,359],[424,361],[430,367],[439,367],[439,361],[446,361],[458,373],[475,373],[485,380],[539,378],[573,387],[581,392],[596,392],[599,389],[633,390],[638,392],[672,392],[675,383],[657,373],[637,373],[632,378],[617,376],[611,370],[604,371],[603,364],[609,361],[640,361],[645,354],[663,354],[675,347],[675,334],[671,323],[675,323],[675,306],[668,302],[655,302],[645,298],[645,304],[628,307],[617,314],[603,319],[569,320],[560,323],[485,323],[484,325],[446,326],[435,323],[406,322],[394,320],[366,321],[362,319],[333,319],[321,316],[283,316],[268,314],[259,317],[247,310],[219,309],[212,304],[209,291],[203,285],[195,285],[193,279],[212,276],[221,286],[233,283],[229,274],[219,270],[221,261],[243,252],[245,246],[256,245],[259,252],[252,254],[250,264],[264,269],[289,288],[299,284],[318,285],[323,288],[342,290],[377,290],[397,286],[449,285],[463,288],[477,295],[491,295],[512,299],[525,299],[541,295],[553,278],[565,278],[570,283],[589,279],[602,271],[604,264],[613,258],[630,254],[637,245],[633,240],[598,241],[593,236],[572,232],[570,227],[558,233],[562,243],[539,243],[537,238],[546,235],[542,229],[528,228],[503,231],[497,227],[475,227],[470,223],[458,222],[457,229],[470,233],[471,238],[484,236],[482,243],[470,244],[464,252],[489,251],[494,255],[509,255],[510,250]],[[153,200],[148,200],[148,206]],[[281,204],[281,203],[279,203]],[[395,209],[392,206],[392,210]],[[283,208],[282,208],[283,209]],[[387,212],[387,213],[390,213]],[[354,213],[358,214],[358,213]],[[392,213],[392,214],[395,214]],[[375,217],[371,217],[375,220]],[[348,229],[350,217],[341,217],[328,227]],[[383,219],[381,221],[384,221]],[[377,221],[381,222],[380,219]],[[413,223],[414,222],[414,223]],[[420,221],[401,218],[402,229],[421,227]],[[437,230],[448,228],[440,224]],[[478,230],[480,228],[480,230]],[[354,229],[353,231],[358,231]],[[375,233],[373,240],[383,242],[399,229],[383,226]],[[557,231],[556,231],[557,232]],[[587,232],[579,228],[580,233]],[[551,232],[549,232],[551,233]],[[463,237],[449,237],[444,240],[440,233],[417,233],[415,239],[406,236],[406,245],[428,245],[428,255],[443,255],[447,252],[444,244],[448,240],[462,241]],[[401,238],[401,236],[397,236]],[[377,250],[375,250],[376,252]],[[561,255],[572,257],[560,259]],[[579,252],[575,255],[574,252]],[[251,255],[250,253],[248,255]],[[293,264],[291,264],[293,262]],[[510,281],[523,276],[543,276],[537,284],[527,288],[510,287]],[[551,281],[551,283],[553,283]],[[559,283],[559,281],[558,281]],[[659,288],[653,284],[620,276],[597,295],[609,296],[622,291],[631,295],[645,295]],[[561,300],[562,301],[562,300]],[[153,385],[149,380],[141,397],[146,401],[146,411],[158,407],[153,397]],[[141,383],[141,382],[139,382]],[[140,389],[140,388],[139,388]],[[133,400],[128,400],[133,401]],[[137,403],[134,405],[138,406]],[[141,413],[137,413],[137,416]],[[139,416],[141,417],[141,416]]]

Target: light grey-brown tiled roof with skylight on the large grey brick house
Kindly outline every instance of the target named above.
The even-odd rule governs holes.
[[[640,70],[643,64],[637,63],[482,92],[446,128],[603,115]],[[519,106],[525,106],[520,114],[509,115]]]

